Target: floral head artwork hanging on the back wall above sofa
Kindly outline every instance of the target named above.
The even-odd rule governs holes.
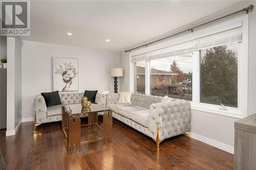
[[[78,59],[52,58],[53,91],[78,91]]]

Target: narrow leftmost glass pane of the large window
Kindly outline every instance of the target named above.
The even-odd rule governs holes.
[[[145,61],[135,65],[135,92],[145,94]]]

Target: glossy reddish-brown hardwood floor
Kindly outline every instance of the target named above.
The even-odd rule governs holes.
[[[99,120],[102,120],[100,118]],[[233,155],[180,135],[160,144],[114,119],[113,143],[82,144],[68,154],[61,123],[22,123],[15,136],[1,130],[1,150],[8,169],[233,169]],[[83,130],[84,134],[87,130]]]

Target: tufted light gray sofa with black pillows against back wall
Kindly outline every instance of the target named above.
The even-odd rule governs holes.
[[[83,97],[83,93],[59,93],[59,98],[62,104],[80,103],[82,97]],[[105,105],[106,95],[97,93],[95,98],[95,103]],[[35,125],[60,121],[61,106],[62,105],[46,107],[46,102],[44,97],[41,94],[36,95],[34,99]],[[99,113],[99,115],[102,115],[102,113]]]

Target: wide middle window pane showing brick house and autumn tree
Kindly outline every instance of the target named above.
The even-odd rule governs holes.
[[[150,61],[151,94],[192,101],[192,54]]]

